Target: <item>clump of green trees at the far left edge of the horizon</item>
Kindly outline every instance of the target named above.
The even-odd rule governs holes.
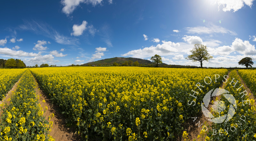
[[[0,68],[16,68],[16,69],[22,69],[26,68],[26,64],[21,61],[20,59],[0,59]]]

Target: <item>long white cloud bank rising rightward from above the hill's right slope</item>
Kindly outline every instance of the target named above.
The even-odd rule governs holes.
[[[155,54],[158,54],[160,56],[168,56],[178,52],[176,48],[180,47],[180,43],[174,43],[171,41],[162,41],[162,43],[163,44],[158,44],[156,46],[132,50],[123,54],[122,56],[131,56],[136,58],[151,57]]]

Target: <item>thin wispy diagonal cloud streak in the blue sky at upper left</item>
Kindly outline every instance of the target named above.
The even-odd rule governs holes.
[[[52,26],[46,23],[39,23],[36,21],[28,22],[24,21],[24,25],[20,25],[19,28],[21,30],[29,30],[36,34],[43,35],[45,37],[51,38],[55,40],[57,43],[64,44],[64,45],[77,45],[79,44],[77,38],[66,37],[58,33]]]

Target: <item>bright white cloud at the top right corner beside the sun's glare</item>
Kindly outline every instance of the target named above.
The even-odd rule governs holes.
[[[219,9],[220,6],[222,5],[223,11],[231,11],[233,10],[233,12],[236,12],[237,10],[241,9],[242,7],[244,7],[244,4],[252,7],[252,2],[254,0],[215,0],[218,5],[219,5]]]

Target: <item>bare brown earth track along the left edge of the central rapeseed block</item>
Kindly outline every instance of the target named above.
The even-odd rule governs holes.
[[[52,113],[54,114],[54,117],[51,118],[53,124],[50,135],[55,138],[55,141],[81,140],[80,137],[75,134],[73,129],[69,129],[65,126],[65,118],[58,111],[58,107],[54,105],[47,95],[39,89],[37,82],[35,91],[39,96],[38,102],[40,103],[41,107],[45,109],[44,107],[47,106],[47,110],[44,111],[45,119],[48,119],[49,115]],[[45,102],[43,102],[43,100],[45,100]]]

